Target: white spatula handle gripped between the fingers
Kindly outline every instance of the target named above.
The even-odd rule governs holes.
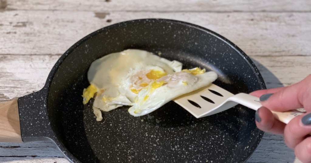
[[[248,108],[251,108],[253,110],[258,110],[260,107],[262,107],[259,97],[255,97],[246,93],[239,93],[234,95],[231,100],[234,102],[237,102],[239,104],[242,104]],[[304,114],[304,112],[292,110],[292,111],[286,111],[286,112],[276,112],[272,111],[272,114],[274,117],[281,122],[288,124],[290,120],[295,118],[296,116]]]

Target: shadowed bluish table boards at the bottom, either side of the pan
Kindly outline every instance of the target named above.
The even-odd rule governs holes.
[[[294,151],[288,148],[283,141],[281,136],[265,133],[257,149],[245,163],[301,163],[295,158]],[[0,162],[53,163],[55,161],[68,163],[57,147],[50,141],[0,143]]]

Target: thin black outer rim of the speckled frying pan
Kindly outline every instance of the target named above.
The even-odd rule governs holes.
[[[191,28],[196,28],[196,29],[199,29],[199,30],[202,30],[206,33],[209,33],[211,35],[213,35],[214,37],[222,40],[224,43],[226,43],[227,45],[229,45],[231,48],[233,48],[235,51],[237,51],[239,53],[240,56],[242,56],[244,58],[244,60],[248,63],[249,67],[254,71],[254,73],[256,74],[256,77],[257,77],[257,80],[258,82],[261,84],[262,88],[266,88],[266,85],[264,83],[264,80],[262,78],[262,75],[260,74],[257,66],[254,64],[254,62],[250,59],[250,57],[248,57],[237,45],[235,45],[233,42],[231,42],[229,39],[225,38],[224,36],[220,35],[220,34],[217,34],[216,32],[210,30],[210,29],[207,29],[207,28],[204,28],[202,26],[199,26],[199,25],[195,25],[195,24],[192,24],[192,23],[188,23],[188,22],[184,22],[184,21],[180,21],[180,20],[172,20],[172,19],[135,19],[135,20],[128,20],[128,21],[123,21],[123,22],[119,22],[119,23],[116,23],[116,24],[113,24],[113,25],[109,25],[109,26],[106,26],[106,27],[103,27],[101,29],[98,29],[88,35],[86,35],[85,37],[81,38],[79,41],[77,41],[76,43],[74,43],[70,48],[68,48],[66,50],[66,52],[64,52],[64,54],[58,59],[58,61],[54,64],[53,68],[51,69],[49,75],[48,75],[48,78],[46,80],[46,83],[44,85],[44,88],[42,89],[45,89],[46,90],[46,103],[48,103],[48,96],[49,96],[49,89],[50,89],[50,86],[52,85],[52,82],[53,82],[53,78],[54,78],[54,75],[56,74],[56,72],[58,71],[58,68],[62,65],[63,61],[67,58],[67,56],[72,53],[77,47],[79,47],[82,43],[86,42],[88,39],[92,38],[93,36],[97,35],[98,33],[100,32],[103,32],[103,31],[106,31],[106,30],[109,30],[109,29],[113,29],[117,26],[124,26],[124,25],[127,25],[127,24],[135,24],[137,22],[140,22],[140,21],[163,21],[163,22],[167,22],[167,23],[174,23],[174,24],[180,24],[180,25],[185,25],[185,26],[189,26]],[[46,108],[47,109],[47,108]],[[61,140],[59,140],[58,136],[56,135],[56,133],[53,131],[52,129],[52,133],[53,133],[53,137],[50,138],[50,137],[46,137],[50,140],[52,140],[53,143],[55,143],[58,147],[58,149],[63,153],[63,155],[67,158],[68,161],[70,162],[81,162],[80,160],[78,160],[66,147],[65,145],[62,143]],[[263,133],[263,132],[262,132]],[[258,140],[256,140],[256,148],[258,147],[258,144],[259,142],[261,141],[262,139],[262,136],[263,134],[259,134],[258,135]],[[255,149],[256,149],[255,148]],[[254,150],[255,150],[254,149]],[[248,156],[247,156],[247,159],[245,161],[248,160],[248,158],[252,155],[253,152],[251,152]],[[245,162],[244,161],[244,162]]]

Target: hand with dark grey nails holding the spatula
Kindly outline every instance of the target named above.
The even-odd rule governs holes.
[[[250,93],[260,97],[263,107],[256,111],[256,125],[265,132],[284,136],[285,144],[295,150],[302,162],[311,162],[311,75],[294,85],[259,90]],[[304,108],[306,113],[287,125],[276,120],[271,111],[290,111]]]

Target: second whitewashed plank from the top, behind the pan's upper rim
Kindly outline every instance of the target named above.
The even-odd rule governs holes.
[[[140,18],[176,19],[201,25],[228,38],[249,56],[311,55],[309,12],[111,12],[99,16],[89,11],[5,11],[0,14],[0,54],[60,55],[97,29]]]

